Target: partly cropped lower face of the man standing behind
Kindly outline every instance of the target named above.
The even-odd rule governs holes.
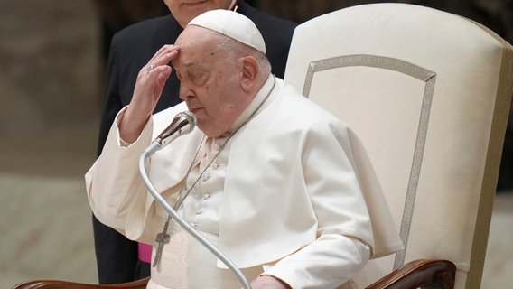
[[[231,4],[231,0],[164,0],[163,2],[182,27],[199,14],[215,9],[228,9]]]

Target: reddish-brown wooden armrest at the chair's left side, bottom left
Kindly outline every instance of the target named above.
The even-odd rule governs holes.
[[[60,280],[35,280],[17,284],[13,289],[145,289],[150,277],[120,284],[80,284]]]

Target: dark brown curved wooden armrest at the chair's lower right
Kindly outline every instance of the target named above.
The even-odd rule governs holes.
[[[456,266],[448,260],[415,260],[366,289],[454,288]]]

